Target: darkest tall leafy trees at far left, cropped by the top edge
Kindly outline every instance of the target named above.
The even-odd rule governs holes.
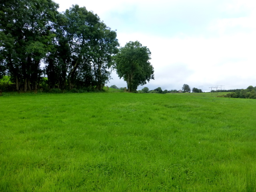
[[[58,4],[52,0],[3,0],[0,3],[0,52],[16,89],[37,89],[40,62],[52,49]],[[23,86],[21,85],[23,84]]]

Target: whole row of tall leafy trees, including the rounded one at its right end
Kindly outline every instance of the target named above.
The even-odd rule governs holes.
[[[52,0],[1,1],[0,79],[10,76],[22,91],[43,81],[48,88],[102,90],[116,68],[132,92],[154,78],[148,48],[119,48],[116,31],[85,7],[57,9]]]

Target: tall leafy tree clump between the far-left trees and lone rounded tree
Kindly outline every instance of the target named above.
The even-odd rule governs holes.
[[[58,21],[56,52],[60,54],[48,58],[46,73],[56,82],[50,72],[60,69],[61,81],[67,74],[69,89],[76,86],[101,90],[110,78],[108,69],[113,65],[113,55],[118,52],[116,32],[78,5],[66,10]]]

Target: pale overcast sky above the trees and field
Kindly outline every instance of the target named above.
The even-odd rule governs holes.
[[[256,86],[256,0],[54,0],[85,6],[116,30],[120,46],[151,51],[155,80],[138,90]],[[108,86],[125,87],[112,73]]]

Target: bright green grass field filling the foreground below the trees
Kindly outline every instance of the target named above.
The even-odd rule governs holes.
[[[3,94],[1,192],[255,192],[256,100]]]

